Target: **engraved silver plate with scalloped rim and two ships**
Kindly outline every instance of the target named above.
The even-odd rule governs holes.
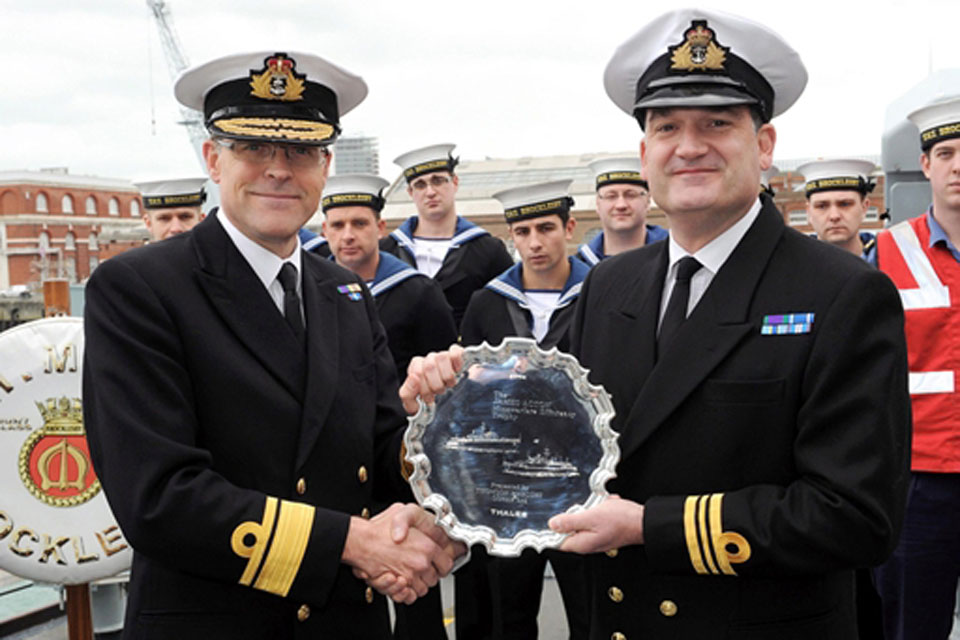
[[[607,497],[620,459],[613,404],[569,354],[529,338],[464,352],[454,387],[404,435],[417,501],[447,533],[498,556],[555,548],[558,513]]]

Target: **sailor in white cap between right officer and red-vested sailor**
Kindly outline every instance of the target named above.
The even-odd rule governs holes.
[[[870,208],[876,165],[867,160],[833,159],[797,167],[804,178],[807,218],[817,238],[873,261],[876,238],[860,225]]]

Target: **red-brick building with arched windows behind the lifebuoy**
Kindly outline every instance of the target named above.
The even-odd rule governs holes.
[[[144,243],[142,207],[128,180],[0,171],[0,291],[83,282],[101,261]]]

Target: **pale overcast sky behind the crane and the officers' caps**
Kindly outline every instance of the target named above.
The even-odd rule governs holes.
[[[686,3],[684,3],[685,5]],[[346,134],[380,140],[380,172],[414,147],[463,158],[636,149],[603,89],[614,49],[669,3],[621,0],[167,0],[190,63],[238,51],[317,53],[367,81]],[[960,67],[957,0],[726,0],[799,51],[810,75],[776,119],[777,158],[880,152],[887,105]],[[145,0],[0,0],[0,171],[193,175]]]

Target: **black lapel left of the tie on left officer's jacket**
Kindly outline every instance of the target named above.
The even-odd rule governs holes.
[[[215,211],[192,231],[197,280],[217,313],[257,360],[302,401],[303,350]]]

